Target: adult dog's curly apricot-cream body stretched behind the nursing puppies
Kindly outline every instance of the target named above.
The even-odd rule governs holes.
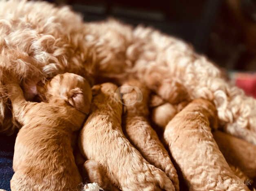
[[[256,101],[226,82],[216,66],[179,39],[113,20],[84,23],[67,7],[46,2],[0,1],[0,26],[0,67],[20,77],[27,98],[36,94],[35,82],[74,72],[94,80],[135,75],[173,102],[168,92],[175,79],[188,91],[179,101],[187,96],[212,100],[225,131],[256,144]],[[0,129],[11,132],[2,75]]]

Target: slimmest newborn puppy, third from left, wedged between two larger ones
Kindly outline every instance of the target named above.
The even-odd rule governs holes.
[[[126,137],[150,164],[167,174],[178,191],[179,179],[176,169],[157,133],[148,122],[149,89],[137,80],[128,80],[121,87],[121,93],[125,105],[123,128]],[[143,97],[139,100],[140,94]]]

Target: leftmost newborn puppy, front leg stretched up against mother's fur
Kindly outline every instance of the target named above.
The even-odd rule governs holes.
[[[15,142],[11,190],[78,190],[82,178],[71,139],[89,112],[90,85],[81,76],[65,73],[38,91],[46,102],[27,102],[18,84],[8,84],[13,115],[22,124]]]

